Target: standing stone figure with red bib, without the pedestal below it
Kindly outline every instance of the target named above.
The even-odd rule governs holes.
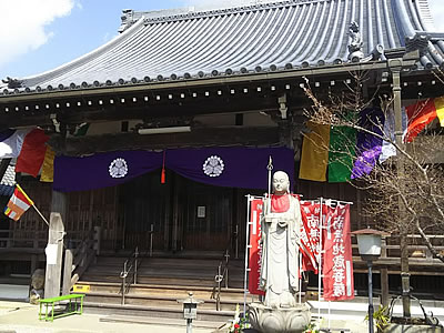
[[[299,200],[289,193],[289,175],[273,175],[273,195],[262,216],[262,270],[260,286],[265,291],[265,305],[291,307],[299,291]]]

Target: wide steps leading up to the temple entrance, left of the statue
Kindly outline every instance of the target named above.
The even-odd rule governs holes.
[[[204,301],[198,307],[198,322],[212,323],[219,327],[233,319],[236,304],[243,307],[242,260],[231,260],[229,264],[229,287],[224,284],[220,295],[220,311],[216,311],[215,282],[220,260],[213,258],[140,258],[138,283],[131,284],[122,304],[120,272],[123,256],[99,256],[81,276],[78,285],[89,285],[84,309],[90,313],[108,314],[109,319],[134,316],[152,319],[183,320],[182,304],[178,300],[188,297]],[[129,276],[130,279],[130,276]],[[253,301],[248,295],[248,302]],[[185,321],[183,321],[185,323]]]

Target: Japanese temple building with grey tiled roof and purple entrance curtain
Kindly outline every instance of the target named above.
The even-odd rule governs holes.
[[[204,293],[218,268],[230,268],[230,291],[243,297],[245,195],[266,192],[270,157],[274,170],[291,175],[294,193],[353,202],[352,230],[372,223],[362,212],[363,191],[299,179],[304,109],[311,107],[302,88],[326,97],[346,90],[353,73],[365,73],[367,97],[401,91],[405,105],[442,93],[434,71],[444,67],[443,57],[444,32],[435,31],[427,0],[124,10],[119,36],[102,47],[0,83],[1,130],[40,128],[56,154],[53,179],[16,176],[50,226],[32,209],[17,222],[1,218],[0,274],[9,281],[44,269],[50,229],[65,233],[58,243],[50,235],[59,253],[62,244],[80,249],[73,250],[72,282],[90,286],[87,306],[90,297],[91,307],[109,302],[149,311],[163,304],[149,295],[153,285],[165,293],[165,285],[191,285],[209,297],[203,313],[214,315]],[[13,162],[3,160],[0,170]],[[128,294],[120,305],[122,265],[135,249],[147,299]],[[355,289],[365,290],[365,264],[355,256]],[[395,293],[398,258],[389,261]],[[60,256],[50,268],[59,280],[61,266]],[[415,290],[443,290],[442,268],[428,255],[416,260]],[[67,275],[56,280],[48,291],[67,287]],[[225,303],[222,309],[232,310],[233,302]]]

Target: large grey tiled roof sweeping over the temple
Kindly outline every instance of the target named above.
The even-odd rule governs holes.
[[[379,44],[385,50],[406,47],[420,49],[421,68],[443,64],[444,34],[433,32],[427,0],[286,0],[201,12],[129,10],[122,17],[123,32],[109,43],[52,71],[10,81],[10,89],[3,87],[0,94],[340,64],[349,61],[353,21],[364,56]]]

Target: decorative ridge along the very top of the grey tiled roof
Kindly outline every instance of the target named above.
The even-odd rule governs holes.
[[[283,8],[289,6],[301,6],[307,3],[315,3],[315,2],[325,2],[331,0],[279,0],[279,1],[270,1],[263,3],[252,3],[252,4],[244,4],[244,6],[235,6],[229,8],[220,8],[220,9],[202,9],[202,10],[189,10],[188,12],[176,13],[176,14],[165,14],[161,16],[162,11],[159,11],[160,16],[151,17],[151,18],[143,18],[144,23],[161,23],[161,22],[171,22],[171,21],[179,21],[179,20],[189,20],[189,19],[199,19],[199,18],[209,18],[209,17],[218,17],[224,14],[233,14],[233,13],[241,13],[245,11],[256,11],[256,10],[265,10],[265,9],[274,9],[274,8]],[[185,9],[185,8],[184,8]],[[169,11],[165,11],[167,13]],[[135,20],[140,19],[143,16],[143,11],[138,12],[133,11],[133,17]]]

